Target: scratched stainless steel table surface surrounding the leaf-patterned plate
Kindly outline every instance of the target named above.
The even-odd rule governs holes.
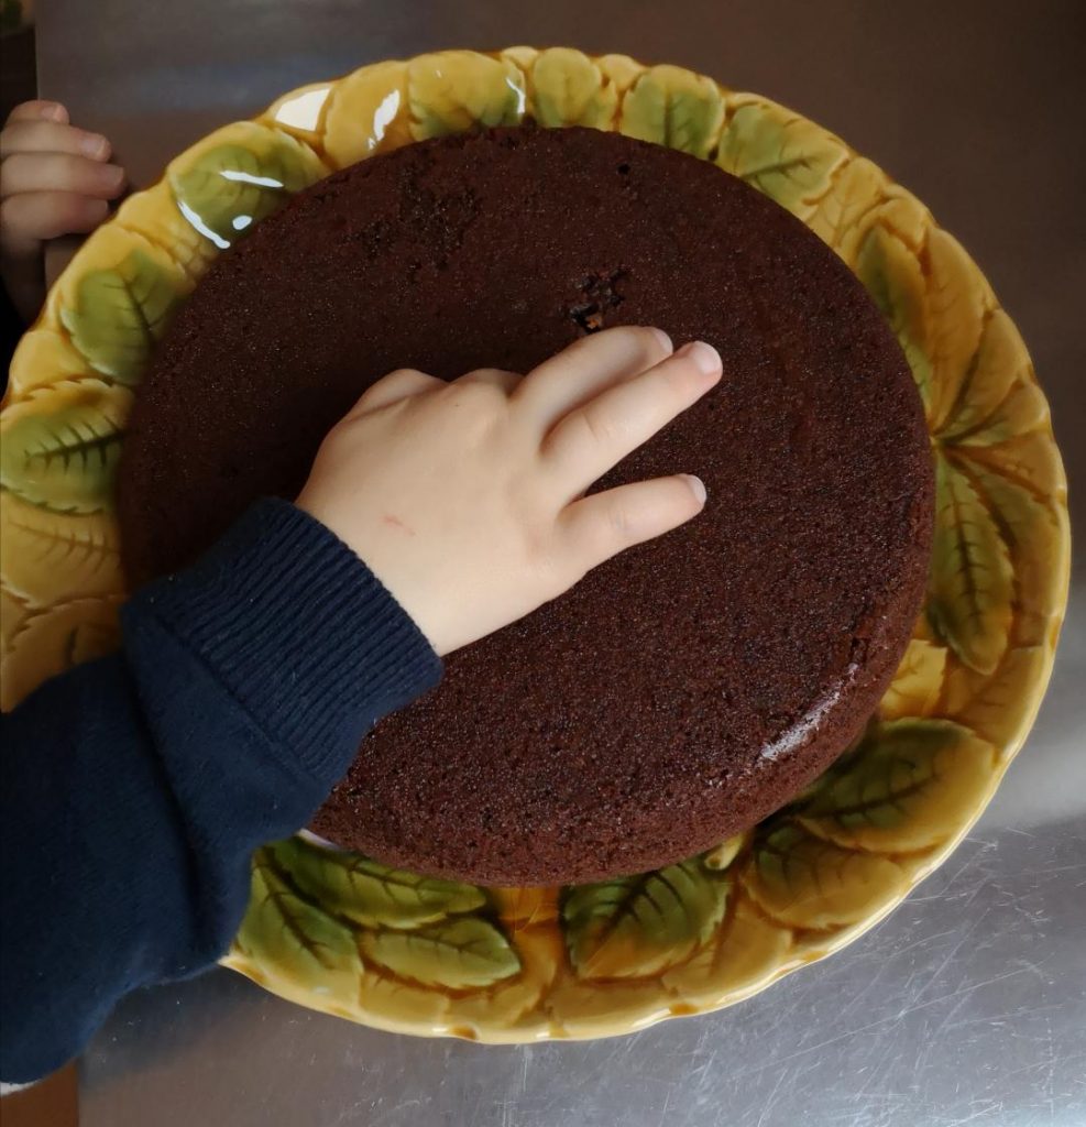
[[[51,0],[44,96],[135,183],[292,86],[442,46],[576,44],[713,73],[876,159],[974,254],[1029,341],[1086,529],[1079,6]],[[1077,139],[1077,140],[1076,140]],[[357,1028],[228,971],[128,999],[84,1127],[1084,1127],[1086,569],[1036,728],[969,840],[847,952],[731,1010],[594,1044]]]

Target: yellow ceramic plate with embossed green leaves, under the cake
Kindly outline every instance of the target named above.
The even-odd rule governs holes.
[[[295,90],[205,137],[53,287],[0,416],[6,708],[117,644],[125,418],[215,256],[335,169],[528,116],[711,160],[825,239],[909,360],[937,513],[926,606],[866,734],[741,838],[658,872],[543,889],[421,877],[302,837],[258,852],[228,966],[355,1021],[486,1041],[618,1033],[727,1005],[881,920],[961,840],[1022,744],[1069,571],[1063,471],[1030,357],[914,196],[791,110],[676,66],[443,52]]]

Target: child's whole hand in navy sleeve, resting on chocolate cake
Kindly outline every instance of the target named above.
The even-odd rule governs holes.
[[[447,654],[701,512],[685,474],[584,494],[720,375],[710,345],[671,355],[647,328],[578,340],[524,378],[393,372],[324,440],[297,504]]]

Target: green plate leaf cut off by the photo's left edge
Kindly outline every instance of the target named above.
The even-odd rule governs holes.
[[[100,513],[132,396],[101,380],[70,380],[32,392],[6,412],[0,485],[54,513]]]

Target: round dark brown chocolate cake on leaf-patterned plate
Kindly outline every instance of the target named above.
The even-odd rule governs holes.
[[[390,370],[527,372],[615,325],[707,340],[724,378],[597,488],[697,473],[704,512],[451,655],[363,742],[321,836],[482,884],[644,871],[786,802],[874,710],[931,540],[905,357],[792,215],[613,133],[409,145],[223,254],[137,391],[118,496],[131,582],[192,561],[255,498],[296,496]]]

